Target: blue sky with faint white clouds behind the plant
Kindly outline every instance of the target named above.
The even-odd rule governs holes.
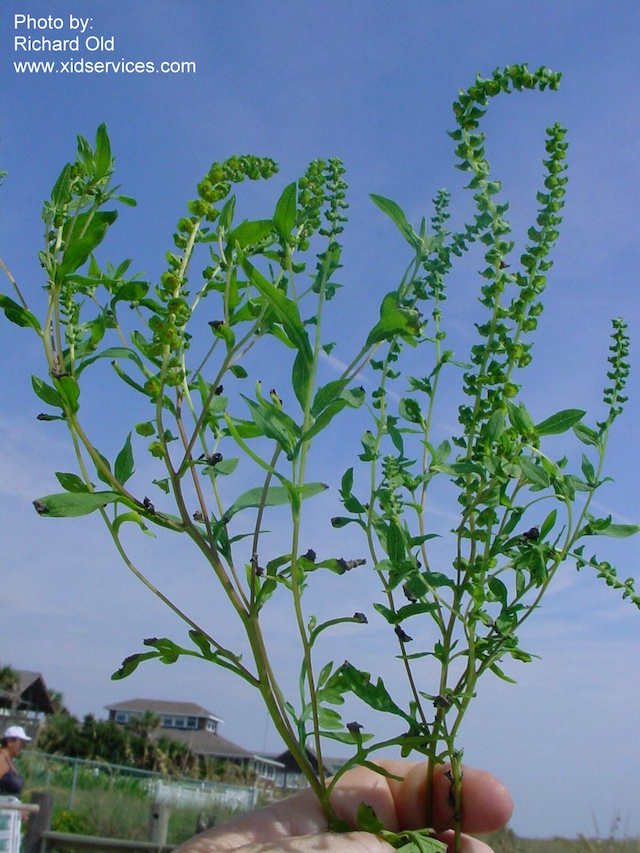
[[[186,60],[196,62],[197,70],[191,75],[17,74],[14,60],[60,57],[14,53],[16,13],[92,17],[93,32],[113,36],[115,50],[100,56],[81,51],[85,59]],[[103,121],[117,158],[117,182],[138,200],[137,208],[121,211],[103,256],[116,262],[133,257],[133,268],[151,281],[162,272],[175,222],[213,160],[250,152],[278,161],[278,176],[238,193],[242,216],[267,217],[282,188],[311,159],[338,156],[350,184],[341,271],[347,286],[334,303],[329,329],[340,342],[336,357],[348,361],[349,333],[373,325],[380,298],[406,263],[399,235],[368,194],[395,199],[419,222],[431,215],[430,199],[446,187],[453,193],[454,224],[460,225],[471,214],[470,199],[462,191],[464,176],[453,169],[453,145],[445,134],[453,127],[451,103],[458,89],[470,85],[476,72],[488,75],[512,62],[561,70],[559,92],[496,99],[484,128],[487,156],[503,181],[520,239],[535,215],[544,129],[556,120],[569,129],[567,205],[525,399],[536,420],[566,407],[587,409],[591,422],[600,417],[610,318],[625,317],[636,369],[608,457],[608,473],[616,482],[601,491],[598,509],[616,521],[637,522],[639,17],[637,3],[626,0],[615,5],[595,0],[4,0],[0,169],[9,176],[0,190],[0,257],[37,311],[42,200],[73,157],[76,134],[93,138]],[[477,253],[466,257],[449,285],[449,328],[462,358],[478,318],[480,263]],[[2,290],[7,293],[8,286]],[[29,377],[43,374],[35,338],[2,323],[0,355],[2,663],[41,671],[80,716],[101,715],[105,704],[133,696],[187,699],[224,718],[223,733],[231,740],[277,750],[258,699],[227,673],[194,662],[171,668],[152,662],[129,680],[109,680],[122,658],[141,648],[143,637],[180,641],[183,629],[119,564],[97,517],[60,522],[37,517],[31,501],[56,491],[53,472],[73,470],[72,454],[58,424],[35,420],[41,404]],[[278,364],[253,365],[265,385],[284,381]],[[323,370],[325,381],[335,376],[331,363]],[[94,401],[91,425],[96,441],[115,453],[127,421],[111,407],[112,383],[106,371],[101,375],[104,398]],[[445,395],[438,424],[442,437],[453,420],[447,415],[454,412],[454,400],[453,393]],[[357,452],[358,429],[335,435],[329,455],[315,463],[315,475],[333,483],[334,492],[351,464],[349,455]],[[563,441],[553,447],[558,456]],[[141,483],[150,470],[141,456],[136,475]],[[255,483],[247,481],[250,485]],[[318,518],[332,513],[332,500],[317,499]],[[435,507],[434,525],[446,530],[451,509],[446,500]],[[352,547],[344,531],[327,531],[315,516],[305,534],[310,541],[323,537],[324,545],[340,554]],[[622,577],[638,576],[638,539],[597,544]],[[212,630],[223,625],[233,641],[238,629],[227,623],[210,577],[180,545],[160,539],[147,547],[131,540],[154,582]],[[364,609],[363,576],[355,575],[324,582],[312,591],[312,605],[329,612]],[[295,677],[293,634],[278,607],[269,628],[289,686]],[[390,686],[402,690],[384,658],[385,625],[379,622],[372,619],[367,628],[360,663],[383,672]],[[515,687],[496,679],[481,685],[462,732],[465,759],[510,786],[516,801],[512,826],[521,835],[589,834],[592,814],[603,832],[619,814],[627,832],[640,833],[634,726],[640,614],[567,565],[521,638],[542,660],[512,666]],[[327,658],[340,660],[345,644],[355,649],[359,642],[353,630],[335,635],[327,642]]]

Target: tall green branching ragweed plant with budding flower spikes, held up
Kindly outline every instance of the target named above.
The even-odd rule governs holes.
[[[100,513],[128,568],[189,627],[191,645],[146,639],[147,651],[128,657],[114,678],[130,675],[145,660],[173,663],[183,655],[243,678],[261,694],[335,830],[346,828],[330,800],[342,774],[358,764],[387,774],[373,756],[396,747],[402,755],[415,752],[427,759],[428,824],[434,769],[448,764],[459,849],[461,722],[482,675],[510,680],[500,667],[503,658],[531,660],[519,645],[518,631],[538,608],[559,566],[573,560],[578,568],[592,568],[640,605],[633,580],[621,581],[609,563],[585,556],[583,542],[640,529],[590,512],[604,482],[609,434],[626,399],[625,324],[613,323],[602,421],[590,426],[585,411],[567,409],[536,423],[520,393],[519,377],[532,360],[531,335],[559,236],[566,132],[559,124],[547,129],[538,214],[517,256],[509,205],[502,200],[500,181],[491,175],[479,129],[493,97],[512,90],[555,90],[559,81],[559,74],[544,67],[530,72],[514,65],[489,79],[478,76],[470,89],[460,91],[454,104],[457,126],[450,136],[457,168],[469,175],[476,208],[461,231],[447,229],[445,191],[436,195],[429,223],[424,218],[417,229],[395,202],[372,196],[405,238],[410,257],[398,286],[382,300],[379,320],[362,335],[342,374],[327,384],[317,381],[319,359],[333,346],[324,339],[323,318],[340,286],[335,276],[347,209],[339,160],[314,161],[284,188],[272,215],[239,223],[234,186],[246,178],[269,179],[277,166],[255,156],[214,163],[189,201],[188,215],[178,222],[166,270],[152,287],[128,275],[130,261],[101,267],[95,257],[116,220],[113,205],[134,204],[111,188],[113,158],[102,125],[95,146],[79,137],[75,161],[64,167],[44,206],[40,261],[47,304],[42,321],[7,271],[18,301],[3,296],[0,305],[9,320],[31,328],[44,347],[47,379],[34,376],[33,388],[49,411],[39,417],[66,425],[78,465],[76,472],[56,474],[64,491],[38,498],[36,511],[44,518]],[[445,348],[444,309],[448,274],[471,243],[484,247],[480,303],[485,316],[466,363]],[[289,405],[259,382],[241,393],[250,385],[245,357],[267,339],[280,348],[281,363],[289,365]],[[421,375],[403,373],[407,347],[425,351]],[[81,389],[84,401],[92,390],[88,377],[102,359],[109,359],[123,382],[122,398],[110,405],[120,403],[124,415],[129,395],[135,394],[150,410],[148,419],[131,425],[113,460],[101,453],[81,416]],[[415,352],[411,361],[417,363]],[[378,379],[368,400],[358,383],[365,367]],[[435,445],[432,424],[443,372],[461,378],[459,427],[451,440]],[[347,558],[318,555],[303,550],[300,542],[307,502],[328,488],[309,482],[309,457],[322,453],[325,429],[345,409],[358,407],[368,410],[370,427],[362,436],[359,459],[339,484],[345,515],[326,524],[359,529],[362,550]],[[546,446],[547,436],[569,430],[586,447],[578,472],[570,470],[566,458],[553,459]],[[134,488],[134,454],[141,450],[151,455],[158,475],[147,484],[134,480]],[[361,466],[366,478],[360,476]],[[242,490],[236,483],[246,481],[247,470],[254,485]],[[365,479],[365,489],[354,485]],[[450,488],[451,483],[459,522],[449,534],[451,565],[440,561],[436,568],[431,547],[439,534],[427,524],[427,510],[440,484]],[[582,498],[576,502],[578,492]],[[279,505],[289,508],[290,529],[276,548],[279,556],[265,560],[264,523]],[[213,570],[244,629],[248,662],[238,649],[227,647],[223,636],[182,612],[134,564],[122,541],[123,528],[131,525],[151,535],[163,528],[189,540]],[[374,585],[382,586],[384,600],[374,602],[373,609],[395,635],[390,639],[408,681],[407,707],[392,698],[377,673],[373,677],[350,661],[317,660],[316,641],[324,631],[345,622],[365,625],[367,616],[357,611],[322,621],[306,612],[305,591],[316,572],[340,575],[363,566],[365,551],[367,568],[358,571],[369,572]],[[299,636],[297,696],[284,695],[262,630],[261,617],[275,594],[290,601]],[[409,646],[411,623],[417,619],[428,620],[435,630],[432,648],[413,651]],[[381,740],[355,721],[344,723],[337,709],[348,693],[393,715],[397,733]],[[330,779],[322,761],[327,740],[353,750]],[[308,747],[317,755],[317,772]],[[442,827],[393,834],[364,804],[359,824],[407,853],[443,846],[434,837]]]

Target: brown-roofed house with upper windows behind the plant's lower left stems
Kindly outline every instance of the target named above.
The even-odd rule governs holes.
[[[126,725],[132,719],[141,719],[145,714],[157,715],[160,726],[152,737],[169,737],[186,744],[197,756],[225,761],[254,772],[262,781],[274,782],[282,764],[275,758],[256,755],[218,734],[218,726],[224,722],[193,702],[168,702],[162,699],[130,699],[106,705],[109,719]]]

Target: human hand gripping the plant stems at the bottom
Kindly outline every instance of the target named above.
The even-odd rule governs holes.
[[[425,823],[426,772],[423,763],[380,761],[403,781],[364,767],[350,770],[336,785],[331,802],[336,814],[355,827],[362,802],[370,805],[387,829],[420,829]],[[438,838],[453,841],[450,782],[446,766],[436,768],[433,821]],[[464,767],[462,823],[466,832],[485,833],[503,827],[513,803],[505,786],[484,770]],[[327,831],[327,819],[313,791],[306,790],[208,829],[182,844],[175,853],[391,853],[386,841],[366,832]],[[490,848],[463,837],[463,853],[489,853]]]

